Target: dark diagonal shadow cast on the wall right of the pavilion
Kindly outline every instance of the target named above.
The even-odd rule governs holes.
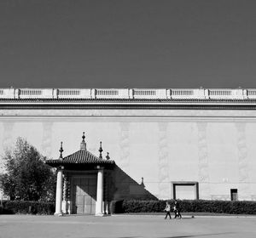
[[[145,186],[138,184],[127,173],[125,173],[117,165],[113,169],[113,173],[108,174],[108,201],[113,200],[158,200],[158,198],[152,195]]]

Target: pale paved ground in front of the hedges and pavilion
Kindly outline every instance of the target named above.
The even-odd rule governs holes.
[[[165,220],[162,216],[153,215],[103,218],[0,215],[0,237],[255,238],[256,218],[185,217]]]

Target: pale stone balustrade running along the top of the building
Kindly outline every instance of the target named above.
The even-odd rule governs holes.
[[[256,89],[0,88],[0,99],[256,99]]]

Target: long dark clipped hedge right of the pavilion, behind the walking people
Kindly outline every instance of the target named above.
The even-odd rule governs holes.
[[[171,207],[174,201],[170,200]],[[256,214],[256,201],[179,201],[181,212],[213,212],[228,214]],[[111,202],[111,212],[163,212],[166,201],[121,200]]]

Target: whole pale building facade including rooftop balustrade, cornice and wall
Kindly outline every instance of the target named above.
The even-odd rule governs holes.
[[[0,154],[20,136],[55,160],[83,132],[125,174],[113,200],[256,201],[256,89],[0,89]]]

